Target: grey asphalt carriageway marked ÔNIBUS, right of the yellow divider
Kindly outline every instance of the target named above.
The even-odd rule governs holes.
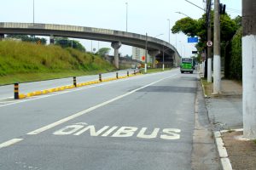
[[[173,70],[0,105],[0,169],[191,169],[197,77]]]

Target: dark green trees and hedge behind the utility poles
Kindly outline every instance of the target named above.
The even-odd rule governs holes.
[[[212,11],[212,39],[214,32],[213,15]],[[179,32],[183,32],[188,37],[200,37],[195,48],[198,51],[197,61],[201,62],[201,54],[207,51],[206,14],[203,14],[199,20],[193,20],[189,17],[177,20],[175,26],[172,27],[172,33]],[[241,16],[231,19],[229,14],[221,14],[220,37],[224,77],[241,81]]]

